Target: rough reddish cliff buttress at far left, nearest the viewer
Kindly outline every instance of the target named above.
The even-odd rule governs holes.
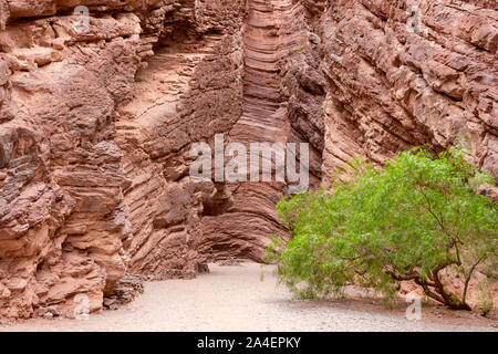
[[[133,97],[139,19],[95,19],[80,35],[66,15],[17,20],[55,13],[52,6],[8,4],[0,33],[0,281],[10,295],[0,314],[50,309],[74,316],[77,294],[97,311],[126,268],[123,190],[131,180],[112,122],[115,105]]]

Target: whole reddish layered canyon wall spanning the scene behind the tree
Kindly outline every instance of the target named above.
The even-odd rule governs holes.
[[[470,137],[498,176],[495,1],[0,0],[0,317],[260,261],[289,181],[198,181],[193,144],[355,155]],[[212,171],[215,175],[215,171]],[[495,196],[492,186],[483,195]],[[116,300],[117,299],[117,300]]]

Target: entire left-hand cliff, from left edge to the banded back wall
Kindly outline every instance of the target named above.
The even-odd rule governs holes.
[[[183,153],[239,115],[240,3],[81,4],[84,33],[73,2],[0,2],[1,316],[100,311],[136,291],[126,271],[195,275],[215,187]]]

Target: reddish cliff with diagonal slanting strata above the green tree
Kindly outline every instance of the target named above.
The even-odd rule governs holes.
[[[492,1],[331,1],[321,17],[328,80],[324,170],[382,164],[470,137],[497,170],[498,17]]]

